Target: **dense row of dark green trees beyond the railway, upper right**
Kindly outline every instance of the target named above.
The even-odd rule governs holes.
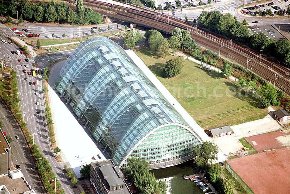
[[[290,41],[283,39],[275,42],[273,38],[268,39],[264,33],[255,33],[251,36],[247,22],[241,24],[231,14],[222,15],[218,11],[203,11],[197,18],[198,25],[212,32],[222,34],[237,42],[247,44],[255,51],[276,57],[286,67],[290,67]]]

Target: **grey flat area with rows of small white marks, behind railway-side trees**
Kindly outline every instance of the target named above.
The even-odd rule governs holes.
[[[271,25],[249,26],[249,28],[251,29],[251,35],[261,32],[264,33],[267,38],[273,38],[274,40],[284,39],[284,37]]]

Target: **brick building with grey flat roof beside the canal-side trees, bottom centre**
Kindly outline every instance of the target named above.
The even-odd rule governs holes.
[[[121,169],[112,160],[91,163],[90,182],[97,194],[131,193],[123,178]]]

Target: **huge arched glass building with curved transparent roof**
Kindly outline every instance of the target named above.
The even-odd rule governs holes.
[[[60,72],[57,89],[118,166],[141,157],[164,168],[193,158],[200,136],[126,52],[105,37],[82,43]]]

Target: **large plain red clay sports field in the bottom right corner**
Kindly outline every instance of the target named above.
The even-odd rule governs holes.
[[[227,161],[256,194],[289,193],[290,148]]]

